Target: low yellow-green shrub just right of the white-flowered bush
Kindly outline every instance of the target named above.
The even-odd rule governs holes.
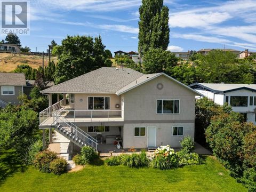
[[[176,154],[179,158],[179,166],[198,165],[201,163],[201,159],[196,153],[185,153],[181,150]]]

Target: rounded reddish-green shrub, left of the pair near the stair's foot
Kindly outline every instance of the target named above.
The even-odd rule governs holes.
[[[42,151],[36,155],[34,166],[42,172],[50,173],[50,163],[57,158],[57,155],[51,151]]]

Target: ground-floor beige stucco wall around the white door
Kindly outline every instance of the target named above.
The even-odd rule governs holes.
[[[145,137],[134,137],[134,127],[145,126],[146,136]],[[143,124],[124,124],[124,137],[123,145],[124,148],[147,148],[148,146],[148,133],[147,127],[156,127],[156,146],[170,145],[171,147],[180,147],[180,141],[185,136],[194,138],[194,123],[143,123]],[[172,127],[183,126],[183,136],[173,136]]]

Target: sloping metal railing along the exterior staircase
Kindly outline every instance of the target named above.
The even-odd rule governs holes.
[[[75,135],[76,138],[78,138],[81,141],[84,141],[86,145],[93,147],[95,150],[97,150],[97,140],[91,137],[91,135],[87,134],[85,131],[80,129],[75,124],[69,122],[66,118],[57,115],[58,112],[56,112],[56,122],[61,124],[64,127],[69,127],[71,132]]]

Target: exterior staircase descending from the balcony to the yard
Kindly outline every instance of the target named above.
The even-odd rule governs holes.
[[[97,151],[97,140],[62,116],[56,115],[55,131],[69,139],[78,147],[90,146]]]

